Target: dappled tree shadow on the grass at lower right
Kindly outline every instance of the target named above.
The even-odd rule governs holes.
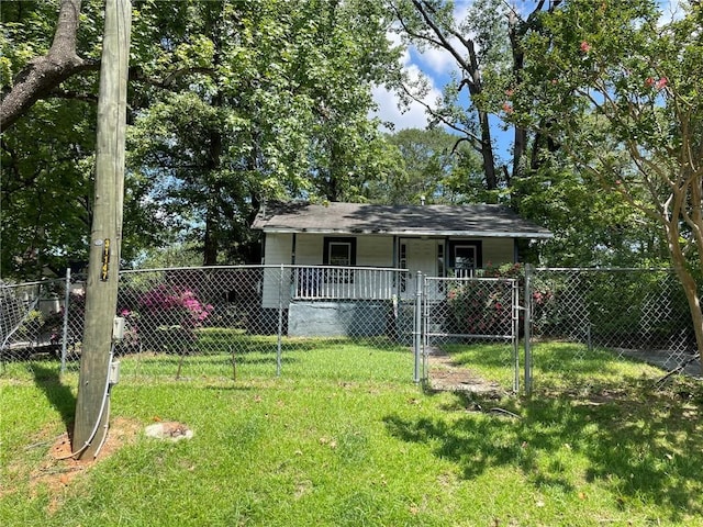
[[[573,491],[580,480],[606,489],[613,506],[659,507],[671,522],[702,514],[702,406],[634,385],[611,396],[509,402],[521,418],[466,412],[476,401],[456,394],[455,408],[437,417],[386,417],[389,434],[427,444],[455,462],[465,479],[513,467],[535,489]],[[494,403],[487,402],[486,407]],[[457,418],[456,411],[465,413]],[[585,468],[584,468],[585,467]]]

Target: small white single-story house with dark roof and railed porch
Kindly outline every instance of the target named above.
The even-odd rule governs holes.
[[[551,237],[500,205],[268,203],[253,228],[264,235],[263,264],[295,266],[283,299],[280,285],[264,279],[263,307],[276,309],[282,301],[292,310],[294,300],[298,311],[302,304],[321,307],[313,302],[338,309],[358,300],[412,298],[417,271],[472,276],[488,264],[520,261],[518,247]],[[389,269],[410,273],[399,278],[383,272]],[[310,313],[301,316],[310,319]],[[289,313],[289,329],[293,318]]]

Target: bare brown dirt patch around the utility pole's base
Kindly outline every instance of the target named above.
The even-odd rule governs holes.
[[[38,468],[30,473],[30,486],[34,491],[38,486],[48,490],[52,495],[49,509],[56,507],[57,500],[66,486],[78,475],[96,463],[109,458],[120,448],[134,442],[142,431],[142,424],[124,417],[116,417],[110,423],[108,438],[98,457],[75,459],[71,457],[70,436],[66,431],[58,436]]]

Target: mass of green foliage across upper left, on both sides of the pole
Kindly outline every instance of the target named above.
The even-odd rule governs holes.
[[[58,2],[2,9],[3,88],[52,42]],[[365,199],[392,169],[371,86],[397,67],[376,2],[133,2],[122,256],[196,242],[208,264],[256,261],[265,199]],[[83,1],[77,51],[100,57],[103,2]],[[87,256],[94,68],[2,138],[3,273]],[[37,144],[40,147],[37,148]],[[81,234],[83,233],[83,234]]]

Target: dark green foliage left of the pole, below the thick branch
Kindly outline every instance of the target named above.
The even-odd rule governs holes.
[[[3,273],[36,277],[44,266],[60,272],[67,260],[87,255],[94,128],[75,122],[77,114],[94,117],[82,103],[44,102],[32,110],[33,122],[3,134]]]

